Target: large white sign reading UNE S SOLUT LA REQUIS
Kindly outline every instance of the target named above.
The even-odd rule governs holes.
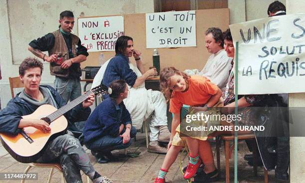
[[[239,44],[238,94],[305,92],[305,14],[232,24],[230,30]]]

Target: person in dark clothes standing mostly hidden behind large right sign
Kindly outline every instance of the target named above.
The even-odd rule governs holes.
[[[286,15],[285,5],[276,0],[267,10],[268,16]],[[288,94],[268,95],[267,106],[269,114],[266,116],[265,132],[255,132],[257,143],[264,167],[269,171],[275,167],[275,177],[278,181],[288,181],[288,167],[290,163],[289,151],[289,118]],[[263,115],[262,115],[263,116]],[[248,155],[246,155],[248,156]],[[252,156],[245,159],[253,161]]]

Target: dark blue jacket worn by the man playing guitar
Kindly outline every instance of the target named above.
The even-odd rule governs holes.
[[[65,100],[60,94],[48,85],[41,85],[41,87],[48,88],[54,99],[56,100],[57,108],[66,104]],[[21,116],[33,113],[39,106],[30,104],[19,97],[19,93],[15,98],[9,100],[6,107],[0,111],[0,133],[7,133],[10,135],[17,135],[19,132],[18,125]],[[83,108],[82,103],[66,112],[64,116],[68,120],[68,130],[72,132],[80,132],[74,122],[84,121],[90,115],[90,107]]]

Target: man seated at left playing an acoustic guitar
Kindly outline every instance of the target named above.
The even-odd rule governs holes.
[[[51,133],[49,123],[41,119],[26,119],[22,116],[33,113],[40,105],[49,104],[56,108],[66,105],[64,99],[50,86],[39,86],[43,65],[35,58],[26,58],[19,66],[20,80],[24,90],[11,99],[0,111],[0,133],[16,136],[25,127],[34,127],[43,133]],[[87,99],[64,114],[68,129],[72,122],[86,120],[90,114],[89,106],[93,104],[94,94],[88,94]],[[53,128],[52,128],[53,129]],[[69,131],[68,131],[69,132]],[[40,132],[41,133],[41,132]],[[33,138],[33,140],[37,140]],[[112,183],[106,177],[97,173],[90,163],[89,157],[79,141],[69,135],[57,136],[47,143],[45,151],[36,162],[60,163],[67,183],[82,182],[82,170],[93,183]],[[26,151],[27,149],[24,149]]]

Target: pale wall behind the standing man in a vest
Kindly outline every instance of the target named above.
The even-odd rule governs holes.
[[[153,12],[153,0],[0,0],[0,100],[10,99],[8,77],[18,75],[19,63],[27,56],[28,43],[58,28],[59,13],[72,10],[77,17]],[[53,85],[49,65],[44,64],[42,84]]]

